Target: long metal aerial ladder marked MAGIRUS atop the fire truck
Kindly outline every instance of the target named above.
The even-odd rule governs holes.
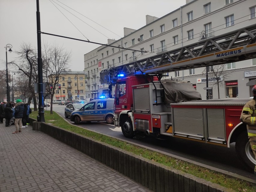
[[[101,84],[118,75],[156,74],[256,58],[256,24],[100,72]]]

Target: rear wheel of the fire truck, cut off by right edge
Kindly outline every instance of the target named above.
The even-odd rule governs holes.
[[[251,150],[247,131],[243,131],[236,140],[236,153],[250,169],[254,169],[256,160]]]

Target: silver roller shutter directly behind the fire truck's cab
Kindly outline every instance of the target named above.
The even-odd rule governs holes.
[[[134,112],[148,113],[150,111],[149,87],[133,89]]]

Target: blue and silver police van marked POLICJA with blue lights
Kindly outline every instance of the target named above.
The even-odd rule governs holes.
[[[80,110],[71,113],[70,121],[79,124],[87,121],[106,121],[113,124],[114,98],[96,99],[88,102]]]

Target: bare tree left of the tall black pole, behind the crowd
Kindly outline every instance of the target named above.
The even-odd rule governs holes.
[[[37,101],[34,91],[34,83],[38,82],[37,52],[35,48],[32,48],[31,44],[23,43],[17,54],[19,55],[17,60],[11,63],[20,70],[20,76],[25,75],[28,77],[26,93],[27,97],[29,97],[28,104],[30,105],[33,99],[34,110],[37,111]]]

